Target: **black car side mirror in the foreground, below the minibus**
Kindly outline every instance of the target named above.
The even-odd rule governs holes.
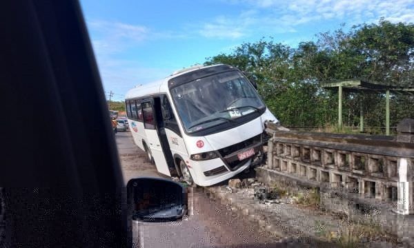
[[[187,211],[187,191],[180,183],[164,178],[134,178],[127,184],[132,220],[169,221]]]

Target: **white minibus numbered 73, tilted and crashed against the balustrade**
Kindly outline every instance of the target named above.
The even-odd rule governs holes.
[[[277,123],[255,83],[230,65],[174,72],[125,101],[135,144],[158,172],[189,185],[213,185],[255,164],[268,140],[264,122]]]

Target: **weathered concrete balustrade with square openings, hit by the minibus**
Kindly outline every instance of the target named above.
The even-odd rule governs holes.
[[[395,203],[414,214],[414,120],[396,137],[279,131],[268,126],[267,169],[320,187],[342,187],[359,198]],[[352,196],[354,197],[354,196]]]

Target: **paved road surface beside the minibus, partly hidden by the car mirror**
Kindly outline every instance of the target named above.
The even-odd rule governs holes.
[[[129,132],[116,134],[119,157],[126,182],[137,176],[165,177],[155,165],[145,161],[145,153],[132,141]],[[204,189],[193,197],[193,215],[172,223],[134,223],[135,236],[141,236],[141,247],[286,247],[275,244],[277,238],[266,236],[246,216],[238,216],[229,206],[209,198]]]

